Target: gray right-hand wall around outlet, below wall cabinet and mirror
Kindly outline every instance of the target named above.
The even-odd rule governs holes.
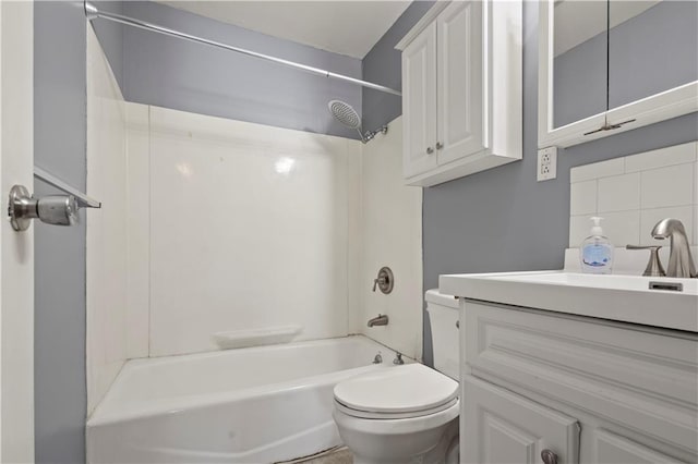
[[[410,24],[414,21],[409,19]],[[563,150],[557,160],[557,179],[535,182],[537,28],[538,4],[524,2],[524,160],[423,191],[425,290],[438,286],[442,273],[562,268],[569,234],[570,168],[698,137],[696,113],[664,121]],[[393,78],[397,78],[399,61],[389,61],[393,68],[389,70],[380,64],[380,56],[371,58],[371,61],[364,60],[365,76],[392,73]],[[376,71],[374,66],[381,69]],[[368,93],[364,93],[363,105],[364,113],[374,105]],[[375,124],[385,123],[394,115],[388,112]],[[432,363],[426,318],[424,359]]]

